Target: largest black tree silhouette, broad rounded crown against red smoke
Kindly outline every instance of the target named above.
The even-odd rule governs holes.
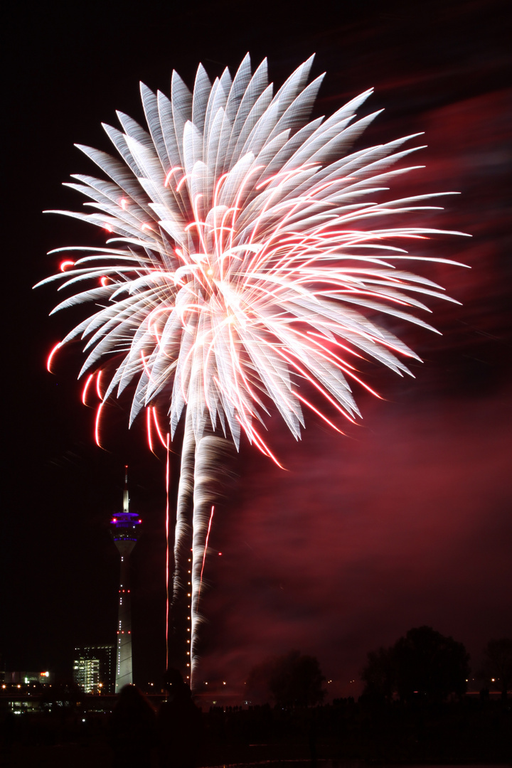
[[[368,654],[362,670],[365,694],[391,699],[398,695],[410,702],[423,697],[429,702],[461,696],[466,690],[469,656],[462,643],[444,637],[431,627],[417,627],[395,645]]]

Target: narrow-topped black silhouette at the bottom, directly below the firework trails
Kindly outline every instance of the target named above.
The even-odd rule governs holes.
[[[161,768],[193,768],[201,740],[201,710],[193,703],[190,688],[178,670],[164,675],[167,699],[157,714]]]

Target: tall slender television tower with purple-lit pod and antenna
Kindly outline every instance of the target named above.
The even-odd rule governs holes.
[[[131,608],[130,608],[130,554],[137,544],[142,522],[135,512],[129,511],[128,468],[124,467],[123,511],[111,519],[111,534],[121,555],[119,578],[119,613],[117,616],[116,694],[124,685],[134,681],[131,656]]]

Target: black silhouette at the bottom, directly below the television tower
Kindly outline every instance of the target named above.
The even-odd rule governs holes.
[[[149,768],[155,725],[154,709],[140,690],[134,685],[122,687],[110,720],[114,768]]]

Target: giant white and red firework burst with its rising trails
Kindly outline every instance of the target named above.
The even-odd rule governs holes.
[[[174,435],[187,410],[174,599],[190,525],[198,594],[214,503],[205,478],[213,476],[219,434],[238,449],[243,433],[277,461],[261,432],[271,403],[296,439],[304,406],[337,429],[306,398],[309,386],[329,409],[354,419],[354,358],[373,358],[399,375],[409,373],[401,357],[419,359],[369,317],[382,312],[431,329],[409,310],[427,310],[421,293],[448,298],[441,286],[395,266],[415,258],[398,240],[440,230],[372,229],[385,216],[431,208],[434,195],[385,199],[395,176],[421,167],[390,170],[420,148],[403,148],[420,134],[351,151],[378,114],[355,121],[372,91],[309,121],[323,78],[307,84],[311,65],[312,58],[275,95],[266,61],[252,74],[249,55],[234,78],[226,69],[213,84],[200,65],[192,93],[173,72],[170,99],[141,84],[148,131],[118,112],[123,131],[104,129],[121,159],[79,147],[110,180],[77,175],[68,184],[90,199],[92,212],[55,211],[113,234],[108,247],[58,249],[84,253],[48,280],[64,276],[61,288],[96,285],[54,311],[90,301],[101,307],[58,347],[88,339],[81,373],[117,353],[102,402],[136,382],[130,423],[163,402]],[[195,630],[194,598],[193,611]],[[195,669],[193,657],[190,663]]]

